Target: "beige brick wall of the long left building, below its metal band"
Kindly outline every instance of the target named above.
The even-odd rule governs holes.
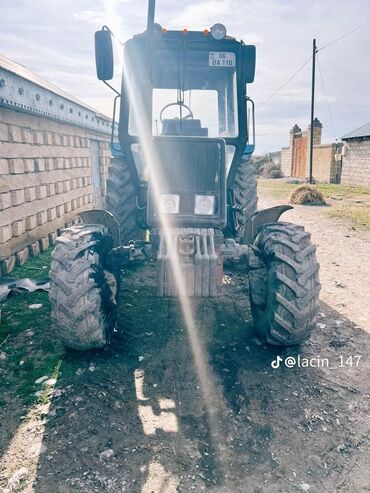
[[[105,193],[109,157],[107,133],[0,107],[0,274],[45,250],[60,228],[93,207]]]

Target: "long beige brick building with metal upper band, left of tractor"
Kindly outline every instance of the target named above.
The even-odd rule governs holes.
[[[0,56],[0,276],[101,207],[112,122]]]

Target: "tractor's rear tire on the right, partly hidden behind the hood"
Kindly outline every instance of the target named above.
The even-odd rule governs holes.
[[[233,191],[235,206],[239,208],[236,213],[239,225],[237,240],[243,243],[248,220],[257,210],[258,202],[256,170],[249,155],[241,157]]]

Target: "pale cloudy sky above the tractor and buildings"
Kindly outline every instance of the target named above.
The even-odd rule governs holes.
[[[113,93],[96,79],[94,32],[108,24],[122,41],[145,29],[147,0],[1,0],[0,53],[27,66],[108,116]],[[156,22],[203,30],[216,22],[257,49],[257,152],[288,145],[289,130],[310,119],[311,64],[274,94],[311,56],[370,20],[369,0],[157,0]],[[319,52],[315,115],[323,142],[370,120],[370,23]],[[115,84],[119,87],[120,67]],[[325,97],[326,94],[326,97]],[[273,97],[271,97],[273,96]],[[331,110],[332,118],[330,117]]]

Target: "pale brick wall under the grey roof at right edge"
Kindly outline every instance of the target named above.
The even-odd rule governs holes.
[[[370,187],[370,138],[344,144],[341,183]]]

